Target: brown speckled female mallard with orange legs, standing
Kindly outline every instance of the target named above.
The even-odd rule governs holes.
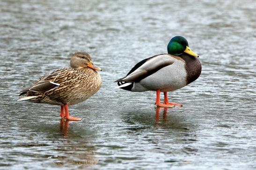
[[[18,101],[60,105],[61,118],[80,121],[81,118],[69,116],[68,105],[83,102],[100,89],[102,80],[96,70],[101,68],[93,64],[86,51],[72,54],[70,66],[37,79],[21,91],[20,95],[26,96]]]

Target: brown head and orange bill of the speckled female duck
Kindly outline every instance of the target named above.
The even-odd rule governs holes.
[[[102,70],[91,60],[91,56],[86,51],[78,51],[71,55],[70,66],[72,68],[92,68],[94,70]]]

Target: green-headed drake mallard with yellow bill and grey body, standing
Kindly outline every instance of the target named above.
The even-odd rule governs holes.
[[[182,36],[173,37],[167,49],[168,54],[155,55],[137,63],[125,77],[115,81],[118,88],[134,92],[156,91],[156,106],[182,107],[180,103],[168,102],[167,92],[194,82],[201,74],[201,63]],[[164,93],[163,104],[160,103],[160,92]]]

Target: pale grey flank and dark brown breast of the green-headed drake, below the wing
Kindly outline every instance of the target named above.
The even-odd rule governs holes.
[[[194,82],[201,74],[200,61],[188,54],[173,56],[175,62],[135,82],[132,91],[174,91]]]

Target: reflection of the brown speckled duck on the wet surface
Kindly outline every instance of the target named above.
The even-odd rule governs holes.
[[[60,119],[58,124],[56,121],[39,122],[37,125],[26,126],[28,128],[37,132],[37,138],[34,139],[37,145],[47,143],[41,146],[40,150],[44,152],[38,152],[37,157],[47,157],[53,166],[84,169],[99,162],[92,142],[96,138],[95,131],[84,129],[79,122]]]

